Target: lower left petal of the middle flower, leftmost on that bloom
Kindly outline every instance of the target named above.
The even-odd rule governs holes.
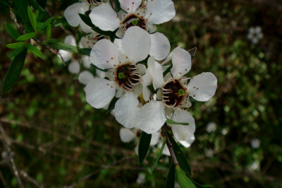
[[[104,78],[94,78],[85,87],[86,101],[94,108],[106,106],[116,93],[116,83]]]

